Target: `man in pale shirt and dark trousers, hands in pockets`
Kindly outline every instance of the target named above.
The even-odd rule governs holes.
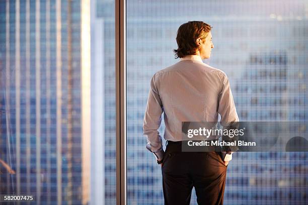
[[[238,122],[226,74],[202,62],[214,48],[211,26],[188,22],[177,32],[180,61],[153,75],[143,119],[146,148],[162,166],[165,204],[190,204],[195,187],[198,204],[222,204],[231,153],[182,152],[182,122]],[[164,112],[168,145],[163,150],[158,129]],[[210,139],[209,139],[210,140]],[[222,156],[222,157],[221,157]]]

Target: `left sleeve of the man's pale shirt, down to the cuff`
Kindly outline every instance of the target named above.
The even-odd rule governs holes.
[[[143,118],[143,135],[147,140],[146,149],[152,152],[158,161],[161,161],[165,155],[162,137],[158,131],[162,122],[162,113],[163,104],[156,85],[156,75],[154,75],[150,82]]]

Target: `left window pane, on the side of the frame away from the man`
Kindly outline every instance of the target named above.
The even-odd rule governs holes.
[[[0,1],[0,194],[33,195],[38,204],[115,204],[114,1],[84,3]],[[82,39],[90,6],[97,10],[92,42]],[[93,47],[91,80],[84,42]],[[93,83],[96,111],[86,123],[85,82]],[[83,132],[90,120],[91,159],[91,135]]]

